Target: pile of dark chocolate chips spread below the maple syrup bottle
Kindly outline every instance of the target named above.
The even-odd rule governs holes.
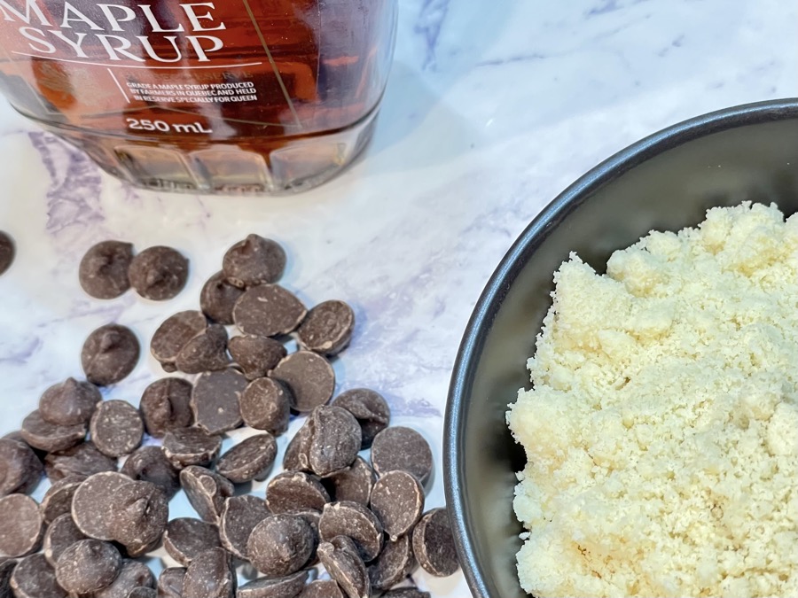
[[[354,314],[341,301],[307,310],[278,285],[285,266],[270,239],[233,245],[200,310],[169,316],[150,344],[165,371],[196,377],[154,381],[138,408],[98,391],[135,367],[136,336],[113,323],[90,334],[86,381],[51,386],[0,439],[0,598],[428,598],[409,585],[419,565],[457,571],[446,509],[425,512],[430,447],[388,425],[378,392],[332,398],[329,359],[348,345]],[[107,241],[86,254],[80,281],[94,297],[132,284],[164,299],[186,274],[173,249],[133,257]],[[290,354],[289,334],[300,347]],[[270,477],[292,414],[304,421],[283,471],[265,496],[246,493]],[[224,433],[243,426],[257,432],[220,454]],[[142,446],[145,434],[160,445]],[[26,494],[43,472],[51,487],[36,504]],[[197,516],[170,520],[181,489]],[[139,557],[160,546],[181,566],[155,579]],[[319,563],[329,579],[317,579]],[[252,580],[239,586],[239,572]]]

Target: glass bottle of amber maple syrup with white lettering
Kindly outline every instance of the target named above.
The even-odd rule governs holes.
[[[371,136],[395,16],[395,0],[0,0],[0,85],[138,186],[303,190]]]

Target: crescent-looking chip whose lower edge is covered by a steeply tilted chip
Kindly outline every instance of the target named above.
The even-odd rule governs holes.
[[[325,504],[318,521],[318,535],[323,542],[329,542],[336,536],[348,536],[355,541],[357,551],[366,563],[382,550],[382,524],[372,511],[356,502]]]

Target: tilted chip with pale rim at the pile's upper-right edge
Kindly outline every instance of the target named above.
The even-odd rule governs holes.
[[[300,346],[308,351],[332,356],[349,344],[355,328],[355,312],[339,300],[313,307],[297,330]]]

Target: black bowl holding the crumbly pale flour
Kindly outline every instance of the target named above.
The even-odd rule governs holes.
[[[446,498],[477,598],[523,598],[512,512],[524,454],[505,424],[529,385],[527,358],[569,252],[603,272],[652,229],[678,230],[711,206],[750,199],[798,211],[798,99],[743,105],[667,128],[576,181],[529,224],[482,292],[465,330],[446,410]]]

